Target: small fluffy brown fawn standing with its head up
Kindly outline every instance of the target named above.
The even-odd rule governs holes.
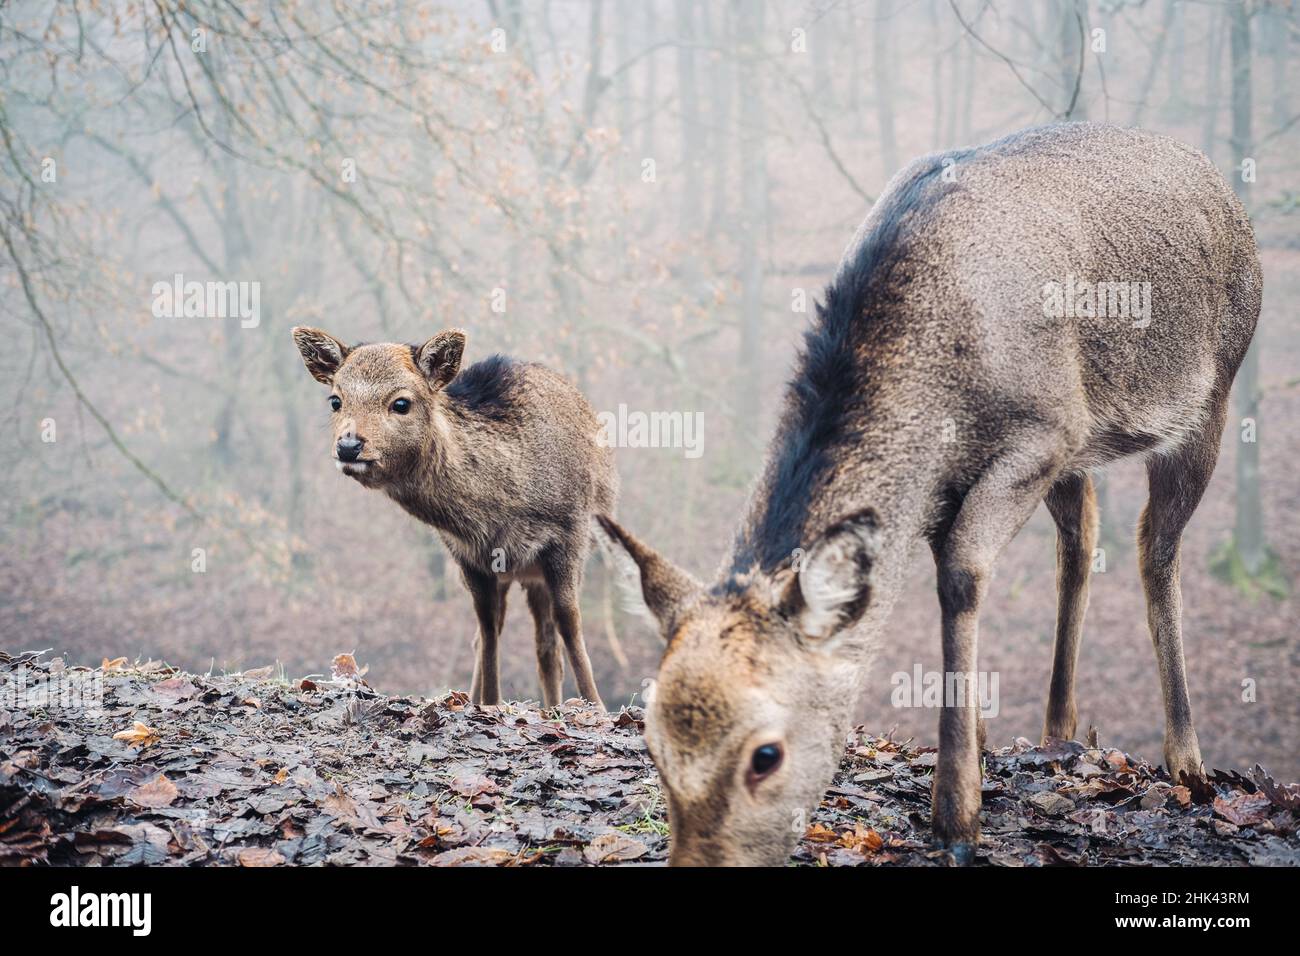
[[[471,696],[498,704],[506,592],[520,581],[537,632],[543,706],[562,701],[568,652],[578,692],[601,704],[578,589],[592,515],[618,497],[612,451],[582,394],[551,369],[494,355],[460,371],[465,333],[424,345],[346,346],[295,328],[307,371],[330,386],[338,470],[432,524],[460,567],[478,635]]]

